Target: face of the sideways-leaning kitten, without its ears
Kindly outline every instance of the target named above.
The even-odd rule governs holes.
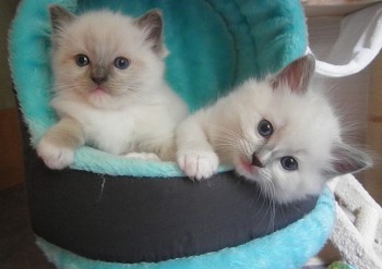
[[[241,139],[231,152],[236,171],[280,203],[320,193],[332,145],[339,142],[335,115],[323,100],[263,86],[253,89],[260,101],[238,111]]]

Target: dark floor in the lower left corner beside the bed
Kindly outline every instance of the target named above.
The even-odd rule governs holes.
[[[55,268],[35,245],[22,185],[0,191],[0,268]]]

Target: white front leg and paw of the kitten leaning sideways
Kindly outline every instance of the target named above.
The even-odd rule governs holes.
[[[190,117],[177,129],[177,161],[190,179],[198,181],[216,173],[219,160],[210,145],[196,117]]]

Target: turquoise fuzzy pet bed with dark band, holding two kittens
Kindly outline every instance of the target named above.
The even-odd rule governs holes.
[[[34,146],[57,121],[48,7],[111,9],[165,20],[167,80],[191,111],[250,76],[305,53],[299,0],[24,0],[10,30],[10,63],[25,138],[25,182],[37,245],[58,268],[300,268],[334,223],[330,191],[274,205],[227,168],[194,183],[172,162],[130,160],[91,147],[52,171]]]

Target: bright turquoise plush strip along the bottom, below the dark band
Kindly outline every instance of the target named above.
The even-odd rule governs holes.
[[[41,239],[37,239],[37,244],[60,269],[301,268],[325,243],[334,225],[334,217],[333,194],[325,189],[317,207],[286,229],[237,247],[156,264],[104,262],[74,255]]]

